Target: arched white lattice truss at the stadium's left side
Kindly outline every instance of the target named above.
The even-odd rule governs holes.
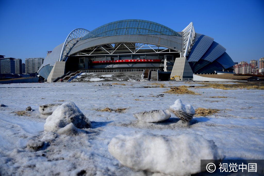
[[[90,31],[83,28],[77,28],[70,32],[63,44],[62,51],[60,52],[59,61],[66,61],[68,59],[68,54],[72,50],[73,46],[89,32]]]

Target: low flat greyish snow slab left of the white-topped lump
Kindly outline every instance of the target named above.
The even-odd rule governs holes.
[[[171,117],[169,110],[143,111],[134,114],[134,117],[143,122],[160,122]]]

